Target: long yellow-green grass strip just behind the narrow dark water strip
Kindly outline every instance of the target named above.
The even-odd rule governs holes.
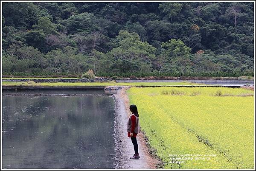
[[[2,81],[3,86],[166,86],[166,85],[204,85],[195,84],[187,81],[183,82],[46,82],[46,83],[35,83],[34,81],[24,81],[24,82],[13,82],[13,81]]]

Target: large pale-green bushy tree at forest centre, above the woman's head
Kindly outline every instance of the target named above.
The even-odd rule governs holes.
[[[119,72],[130,73],[147,70],[151,61],[156,58],[155,50],[148,42],[141,42],[137,33],[121,30],[116,36],[116,48],[108,52],[107,56],[113,60],[112,70],[118,67]]]

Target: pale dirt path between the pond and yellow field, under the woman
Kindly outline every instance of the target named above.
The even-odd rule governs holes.
[[[128,87],[122,88],[121,90],[118,90],[117,94],[113,95],[116,101],[116,168],[154,169],[160,161],[151,157],[143,132],[140,132],[137,135],[140,159],[130,159],[134,154],[134,149],[131,139],[127,136],[126,131],[128,116],[131,115],[131,112],[129,111],[129,99],[125,93],[125,90],[127,89]]]

